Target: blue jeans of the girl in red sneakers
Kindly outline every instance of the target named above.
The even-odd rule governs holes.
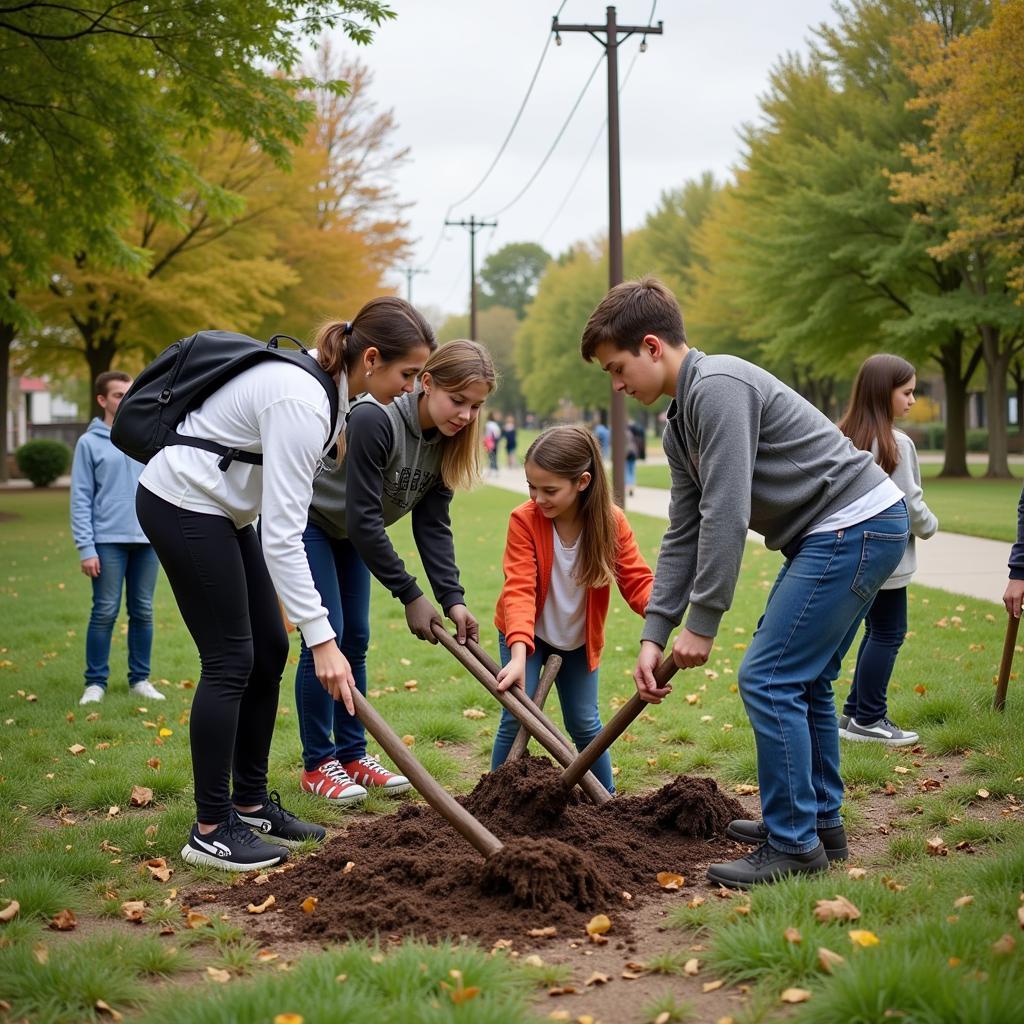
[[[334,540],[313,523],[307,523],[302,543],[316,592],[338,636],[338,646],[352,667],[358,691],[366,696],[370,570],[351,541]],[[305,641],[295,673],[295,708],[302,739],[302,763],[307,771],[330,758],[347,764],[367,753],[362,723],[321,685],[313,671],[313,655]]]

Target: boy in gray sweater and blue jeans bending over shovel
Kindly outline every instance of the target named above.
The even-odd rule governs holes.
[[[785,556],[738,676],[763,820],[733,821],[727,835],[758,846],[712,864],[708,877],[743,889],[823,870],[847,855],[833,682],[903,555],[903,496],[869,453],[771,374],[690,348],[679,304],[656,279],[612,288],[587,323],[581,353],[644,404],[673,399],[664,438],[669,528],[634,673],[641,697],[656,703],[672,691],[654,669],[687,606],[673,658],[681,669],[707,663],[748,528]]]

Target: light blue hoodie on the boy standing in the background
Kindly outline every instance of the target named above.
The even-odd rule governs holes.
[[[82,561],[97,544],[148,544],[135,517],[135,490],[145,467],[111,442],[95,419],[75,445],[71,467],[71,534]]]

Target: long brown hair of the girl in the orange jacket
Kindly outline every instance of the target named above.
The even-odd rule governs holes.
[[[575,580],[587,588],[609,585],[615,578],[618,526],[594,435],[586,427],[551,427],[526,450],[523,463],[527,462],[573,483],[590,473],[590,485],[577,495],[583,532]]]

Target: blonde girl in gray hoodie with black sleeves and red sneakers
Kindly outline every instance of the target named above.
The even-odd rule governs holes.
[[[435,643],[441,616],[408,572],[385,529],[412,514],[413,537],[434,598],[455,623],[461,642],[479,639],[459,580],[449,507],[456,490],[479,478],[480,410],[495,390],[495,367],[475,341],[451,341],[426,361],[411,394],[382,406],[361,398],[349,419],[345,465],[313,487],[302,535],[316,590],[327,605],[360,693],[367,692],[371,572],[406,606],[421,640]],[[388,796],[409,779],[367,754],[362,723],[316,682],[303,644],[295,675],[302,736],[301,785],[335,804],[361,801],[367,791]]]

